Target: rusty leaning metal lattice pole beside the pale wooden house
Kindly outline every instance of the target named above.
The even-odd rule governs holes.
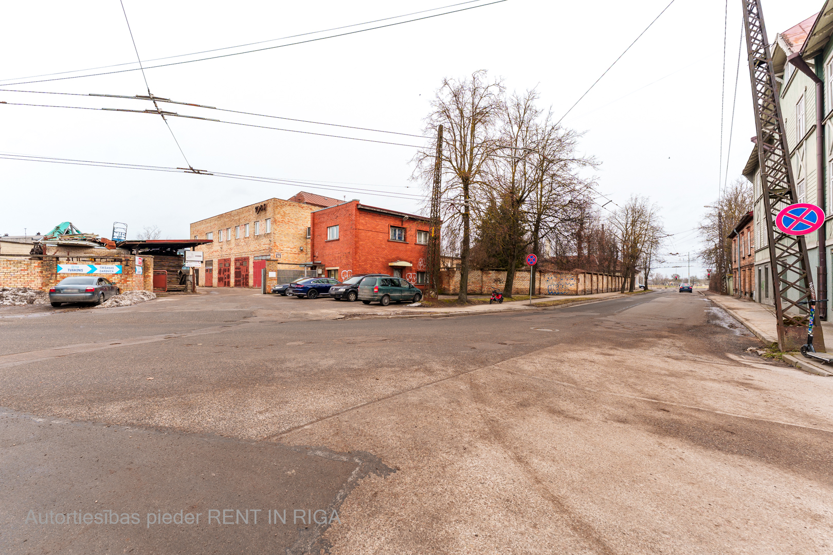
[[[766,42],[761,0],[741,1],[749,54],[752,101],[755,103],[766,234],[769,240],[772,283],[775,285],[778,344],[782,351],[786,351],[797,349],[806,342],[810,309],[807,305],[799,305],[798,302],[808,300],[811,296],[812,278],[808,272],[810,260],[807,257],[803,236],[787,235],[775,226],[778,212],[793,204],[798,198],[796,181],[792,175],[784,118],[781,116],[781,105],[778,102],[772,54]],[[816,329],[821,331],[821,326]],[[821,337],[819,344],[824,344]]]

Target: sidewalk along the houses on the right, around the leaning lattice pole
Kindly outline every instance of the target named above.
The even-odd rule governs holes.
[[[726,312],[741,322],[741,324],[745,325],[752,334],[755,334],[767,346],[778,343],[775,307],[762,305],[761,303],[750,300],[736,299],[730,295],[716,295],[711,291],[701,291],[701,295],[704,295],[706,299],[720,306],[721,309],[726,310]],[[824,330],[826,338],[833,338],[833,323],[821,322],[821,329]],[[791,364],[811,374],[833,376],[833,367],[817,363],[815,360],[806,359],[801,354],[783,354],[782,358],[787,364]]]

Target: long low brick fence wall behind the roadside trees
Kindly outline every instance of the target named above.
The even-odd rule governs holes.
[[[529,294],[529,271],[517,271],[512,284],[512,295]],[[460,270],[440,272],[441,293],[456,295],[460,292]],[[506,285],[505,270],[469,270],[468,293],[488,295],[492,290],[502,291]],[[621,275],[594,274],[590,272],[537,272],[536,295],[589,295],[621,289]]]

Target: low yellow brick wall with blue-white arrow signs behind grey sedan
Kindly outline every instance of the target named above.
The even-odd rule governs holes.
[[[142,275],[136,274],[135,256],[107,256],[104,260],[87,256],[87,260],[63,260],[62,256],[2,257],[0,256],[0,286],[31,287],[47,291],[67,277],[90,274],[58,274],[58,264],[116,264],[122,265],[121,274],[102,274],[122,291],[152,290],[153,257],[142,257]]]

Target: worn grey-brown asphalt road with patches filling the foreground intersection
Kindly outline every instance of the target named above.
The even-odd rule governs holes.
[[[332,301],[0,310],[0,551],[833,553],[833,381],[701,295],[290,303]],[[55,522],[102,508],[139,523]]]

